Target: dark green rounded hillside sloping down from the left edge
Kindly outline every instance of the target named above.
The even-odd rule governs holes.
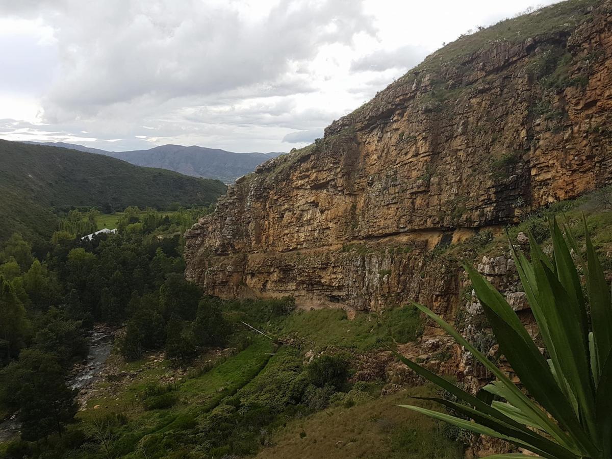
[[[56,230],[57,209],[207,206],[225,190],[217,180],[72,149],[0,140],[0,241],[15,231],[29,239],[50,236]]]

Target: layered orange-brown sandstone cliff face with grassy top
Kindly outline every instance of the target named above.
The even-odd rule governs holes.
[[[611,118],[612,2],[499,24],[239,179],[185,235],[187,278],[222,297],[413,299],[452,317],[461,274],[432,249],[610,182]]]

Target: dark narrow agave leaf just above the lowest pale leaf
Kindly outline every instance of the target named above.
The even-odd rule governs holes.
[[[485,427],[491,428],[494,431],[501,433],[502,435],[506,435],[512,438],[516,438],[520,441],[525,442],[526,444],[531,445],[541,451],[550,453],[554,455],[554,457],[558,459],[572,459],[575,458],[575,455],[560,446],[558,443],[554,443],[543,436],[535,433],[534,431],[520,431],[517,430],[510,425],[502,422],[493,416],[488,416],[487,414],[483,414],[482,412],[477,411],[476,409],[470,408],[469,406],[461,405],[460,403],[456,403],[450,400],[444,400],[444,398],[438,397],[411,397],[416,398],[417,400],[430,400],[439,403],[440,405],[444,405],[447,408],[454,409],[455,411],[463,414],[463,416],[469,417],[473,419],[477,424],[483,425]]]

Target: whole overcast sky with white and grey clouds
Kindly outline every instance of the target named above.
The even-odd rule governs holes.
[[[445,42],[554,0],[0,0],[0,138],[289,151]]]

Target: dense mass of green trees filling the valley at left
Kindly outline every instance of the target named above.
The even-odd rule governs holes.
[[[22,438],[61,434],[76,413],[65,381],[88,354],[94,323],[127,324],[122,353],[166,348],[176,362],[224,343],[217,300],[184,279],[182,232],[208,209],[171,215],[128,207],[119,233],[81,236],[95,211],[70,211],[45,256],[13,234],[0,246],[0,419],[18,412]]]

